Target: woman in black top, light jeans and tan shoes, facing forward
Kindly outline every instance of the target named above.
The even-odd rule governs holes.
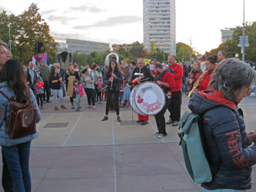
[[[50,88],[53,94],[54,98],[54,105],[55,105],[55,110],[58,111],[58,105],[57,105],[57,99],[61,101],[61,108],[62,109],[67,109],[66,106],[63,103],[63,91],[62,91],[62,86],[64,82],[62,81],[62,78],[60,74],[58,74],[58,68],[52,67],[51,69],[51,74],[49,77],[49,84]]]

